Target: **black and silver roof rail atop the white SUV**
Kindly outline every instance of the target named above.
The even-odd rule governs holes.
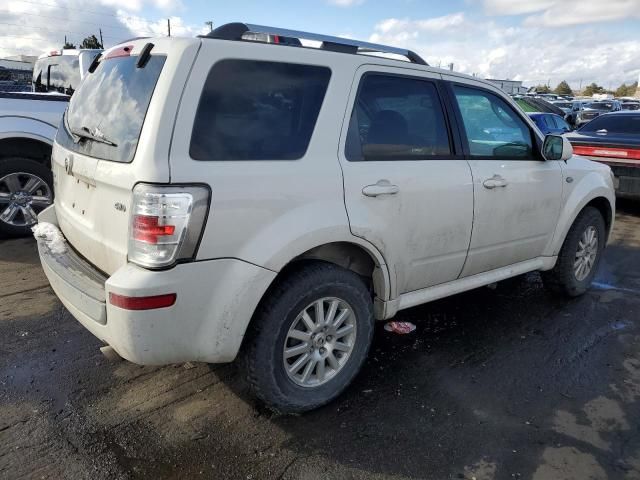
[[[332,52],[340,53],[391,53],[406,57],[411,63],[418,65],[428,65],[417,53],[404,48],[389,47],[376,43],[361,42],[349,38],[332,37],[318,33],[301,32],[288,30],[286,28],[267,27],[264,25],[253,25],[249,23],[227,23],[221,25],[206,35],[199,35],[201,38],[216,38],[220,40],[242,40],[246,33],[261,33],[266,35],[279,35],[282,37],[298,38],[321,42],[320,48]]]

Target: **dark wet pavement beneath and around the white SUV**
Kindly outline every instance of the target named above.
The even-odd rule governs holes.
[[[0,478],[640,479],[640,206],[593,289],[537,274],[402,312],[334,403],[275,416],[231,365],[111,363],[31,240],[0,240]]]

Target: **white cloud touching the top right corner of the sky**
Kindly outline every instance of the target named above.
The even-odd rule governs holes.
[[[488,15],[531,14],[528,26],[564,27],[640,18],[640,0],[483,0]]]

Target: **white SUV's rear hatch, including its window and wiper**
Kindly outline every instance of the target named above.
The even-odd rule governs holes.
[[[170,181],[175,114],[199,45],[145,39],[104,52],[58,129],[52,169],[60,229],[107,274],[127,262],[134,185]]]

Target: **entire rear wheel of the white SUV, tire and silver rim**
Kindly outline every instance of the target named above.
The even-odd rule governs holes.
[[[280,413],[330,402],[351,383],[369,351],[374,319],[367,285],[349,270],[313,262],[267,295],[243,352],[252,391]]]

